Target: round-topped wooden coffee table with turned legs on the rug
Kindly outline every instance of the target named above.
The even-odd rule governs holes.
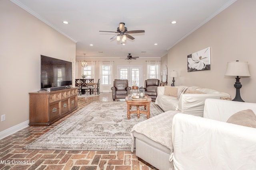
[[[130,114],[131,113],[137,113],[138,118],[140,118],[140,113],[144,113],[144,114],[147,115],[147,119],[149,119],[149,117],[150,117],[150,102],[151,102],[152,99],[148,95],[145,95],[145,96],[147,96],[147,100],[132,100],[132,95],[131,94],[126,96],[125,100],[126,100],[126,103],[127,103],[127,118],[128,119],[130,119]],[[137,110],[130,111],[132,106],[136,106]],[[144,106],[144,109],[146,111],[140,110],[140,106]]]

